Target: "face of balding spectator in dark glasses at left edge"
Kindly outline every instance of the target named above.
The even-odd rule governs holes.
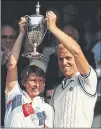
[[[11,50],[15,39],[16,32],[14,29],[10,26],[3,26],[1,29],[1,48],[4,49],[4,47],[6,47]]]

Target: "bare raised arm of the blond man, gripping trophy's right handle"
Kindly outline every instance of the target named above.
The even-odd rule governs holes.
[[[46,12],[47,27],[49,31],[68,49],[74,56],[77,68],[83,75],[89,73],[89,64],[79,44],[69,35],[56,26],[56,15],[52,11]]]

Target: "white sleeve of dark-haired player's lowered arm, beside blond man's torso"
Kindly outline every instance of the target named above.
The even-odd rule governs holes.
[[[49,105],[46,104],[46,120],[45,120],[45,125],[48,128],[52,128],[53,127],[53,118],[54,118],[54,112],[53,112],[53,108]]]

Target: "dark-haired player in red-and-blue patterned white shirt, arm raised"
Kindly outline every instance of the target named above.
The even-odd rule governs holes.
[[[39,96],[45,86],[45,65],[32,60],[22,72],[23,91],[18,83],[17,63],[25,35],[26,20],[19,22],[20,33],[9,57],[6,78],[5,127],[43,128],[52,127],[52,107]]]

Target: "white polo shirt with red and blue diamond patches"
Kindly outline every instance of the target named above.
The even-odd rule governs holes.
[[[53,127],[53,109],[37,96],[31,101],[25,91],[22,91],[17,83],[6,94],[6,128],[43,128],[44,124]]]

